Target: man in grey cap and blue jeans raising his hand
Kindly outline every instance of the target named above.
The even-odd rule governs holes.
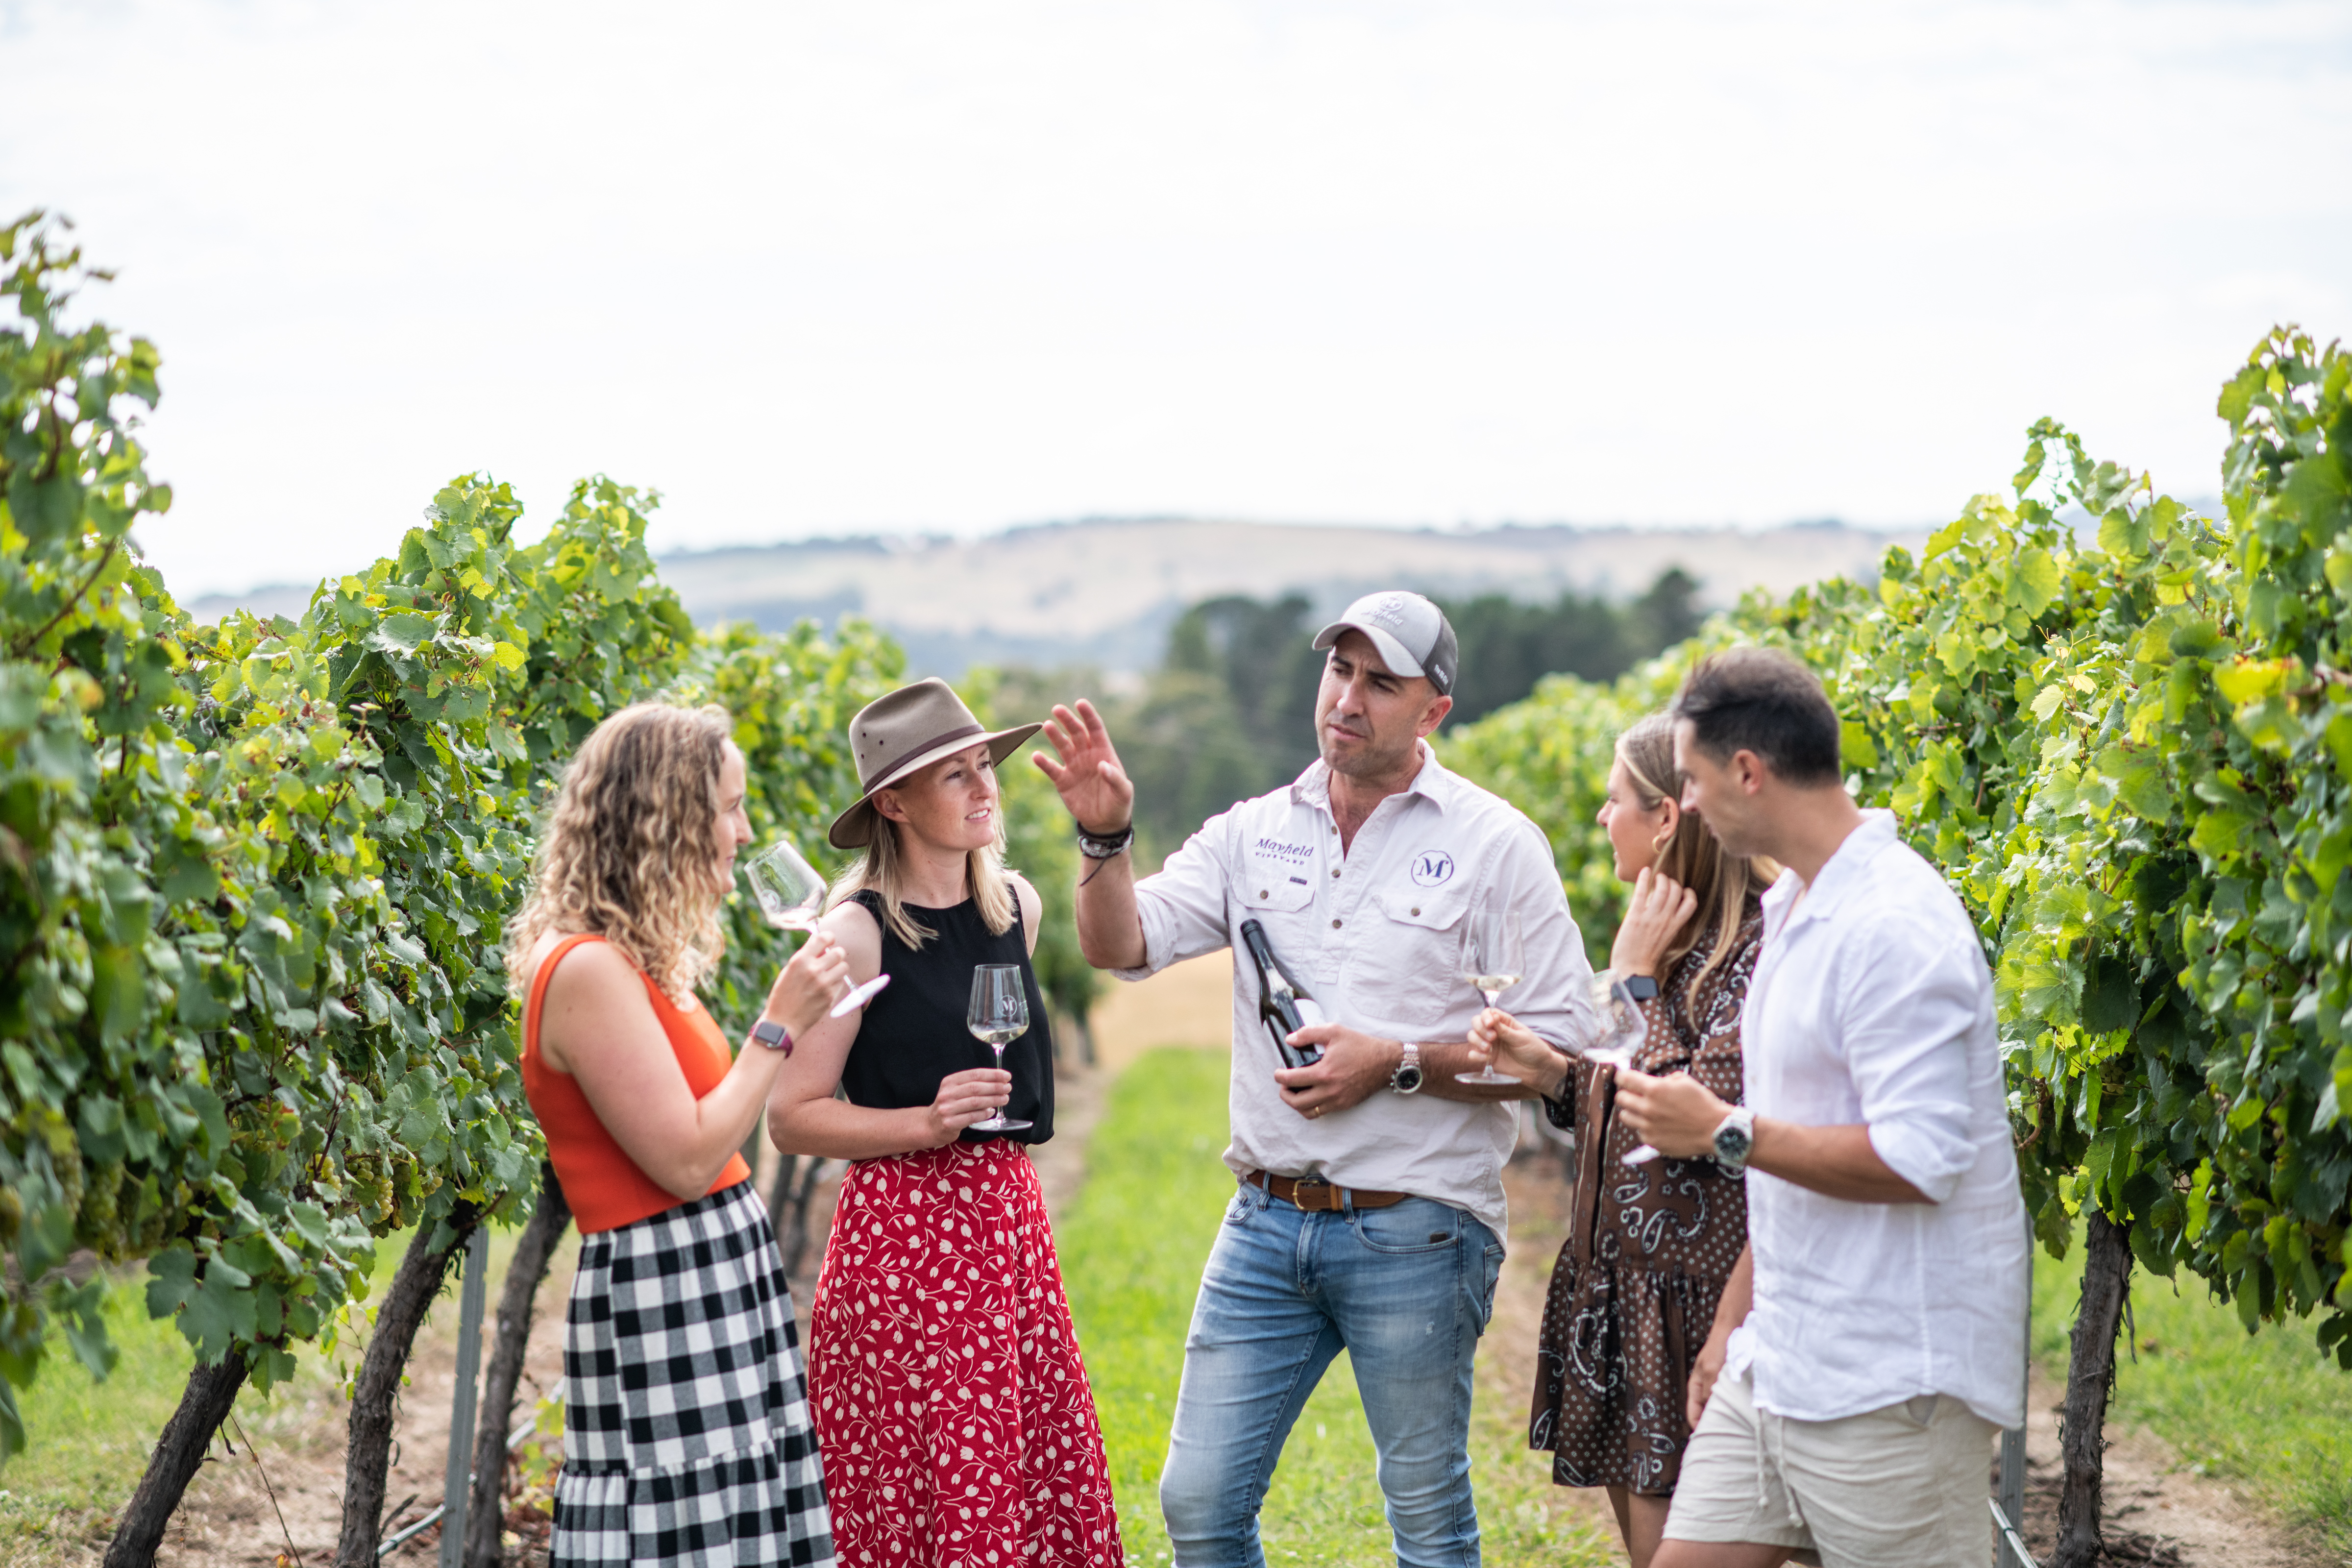
[[[1124,853],[1134,788],[1094,708],[1056,708],[1040,757],[1089,858],[1087,961],[1138,980],[1256,919],[1331,1023],[1282,1067],[1258,980],[1235,964],[1232,1145],[1240,1190],[1202,1272],[1160,1507],[1178,1568],[1261,1568],[1258,1505],[1331,1359],[1345,1349],[1378,1448],[1397,1561],[1479,1561],[1470,1361],[1503,1262],[1503,1161],[1517,1084],[1456,1081],[1482,1001],[1461,980],[1465,914],[1517,910],[1512,1013],[1581,1034],[1590,969],[1543,832],[1449,773],[1428,733],[1454,705],[1454,628],[1421,595],[1357,599],[1315,639],[1322,759],[1209,818],[1141,884]],[[1446,1044],[1437,1044],[1446,1041]]]

